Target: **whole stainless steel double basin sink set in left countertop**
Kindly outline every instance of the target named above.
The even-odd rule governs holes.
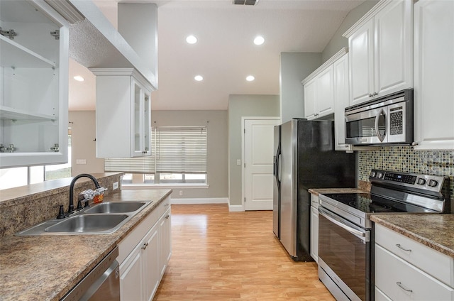
[[[15,235],[111,234],[150,203],[151,201],[123,201],[94,204],[65,219],[50,219]]]

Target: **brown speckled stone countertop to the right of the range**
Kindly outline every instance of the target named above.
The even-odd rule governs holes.
[[[454,214],[377,214],[370,219],[454,257]]]

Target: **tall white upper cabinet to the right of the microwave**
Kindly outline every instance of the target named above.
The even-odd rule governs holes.
[[[454,150],[454,1],[414,6],[416,150]]]

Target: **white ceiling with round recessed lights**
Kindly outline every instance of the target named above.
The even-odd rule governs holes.
[[[117,0],[95,0],[116,27]],[[138,2],[128,0],[121,2]],[[229,94],[279,94],[279,54],[321,53],[364,0],[139,1],[158,6],[158,89],[152,110],[225,110]],[[186,43],[195,35],[196,44]],[[265,38],[255,45],[256,35]],[[82,75],[84,82],[72,77]],[[195,75],[204,80],[196,82]],[[245,78],[253,75],[255,80]],[[95,109],[95,77],[70,60],[71,111]]]

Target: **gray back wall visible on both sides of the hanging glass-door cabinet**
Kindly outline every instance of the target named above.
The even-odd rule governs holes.
[[[209,188],[175,189],[172,198],[228,197],[227,111],[152,111],[153,126],[207,126]],[[104,159],[96,158],[94,111],[70,111],[72,175],[104,173]],[[77,159],[87,160],[77,165]],[[179,190],[183,195],[179,196]]]

